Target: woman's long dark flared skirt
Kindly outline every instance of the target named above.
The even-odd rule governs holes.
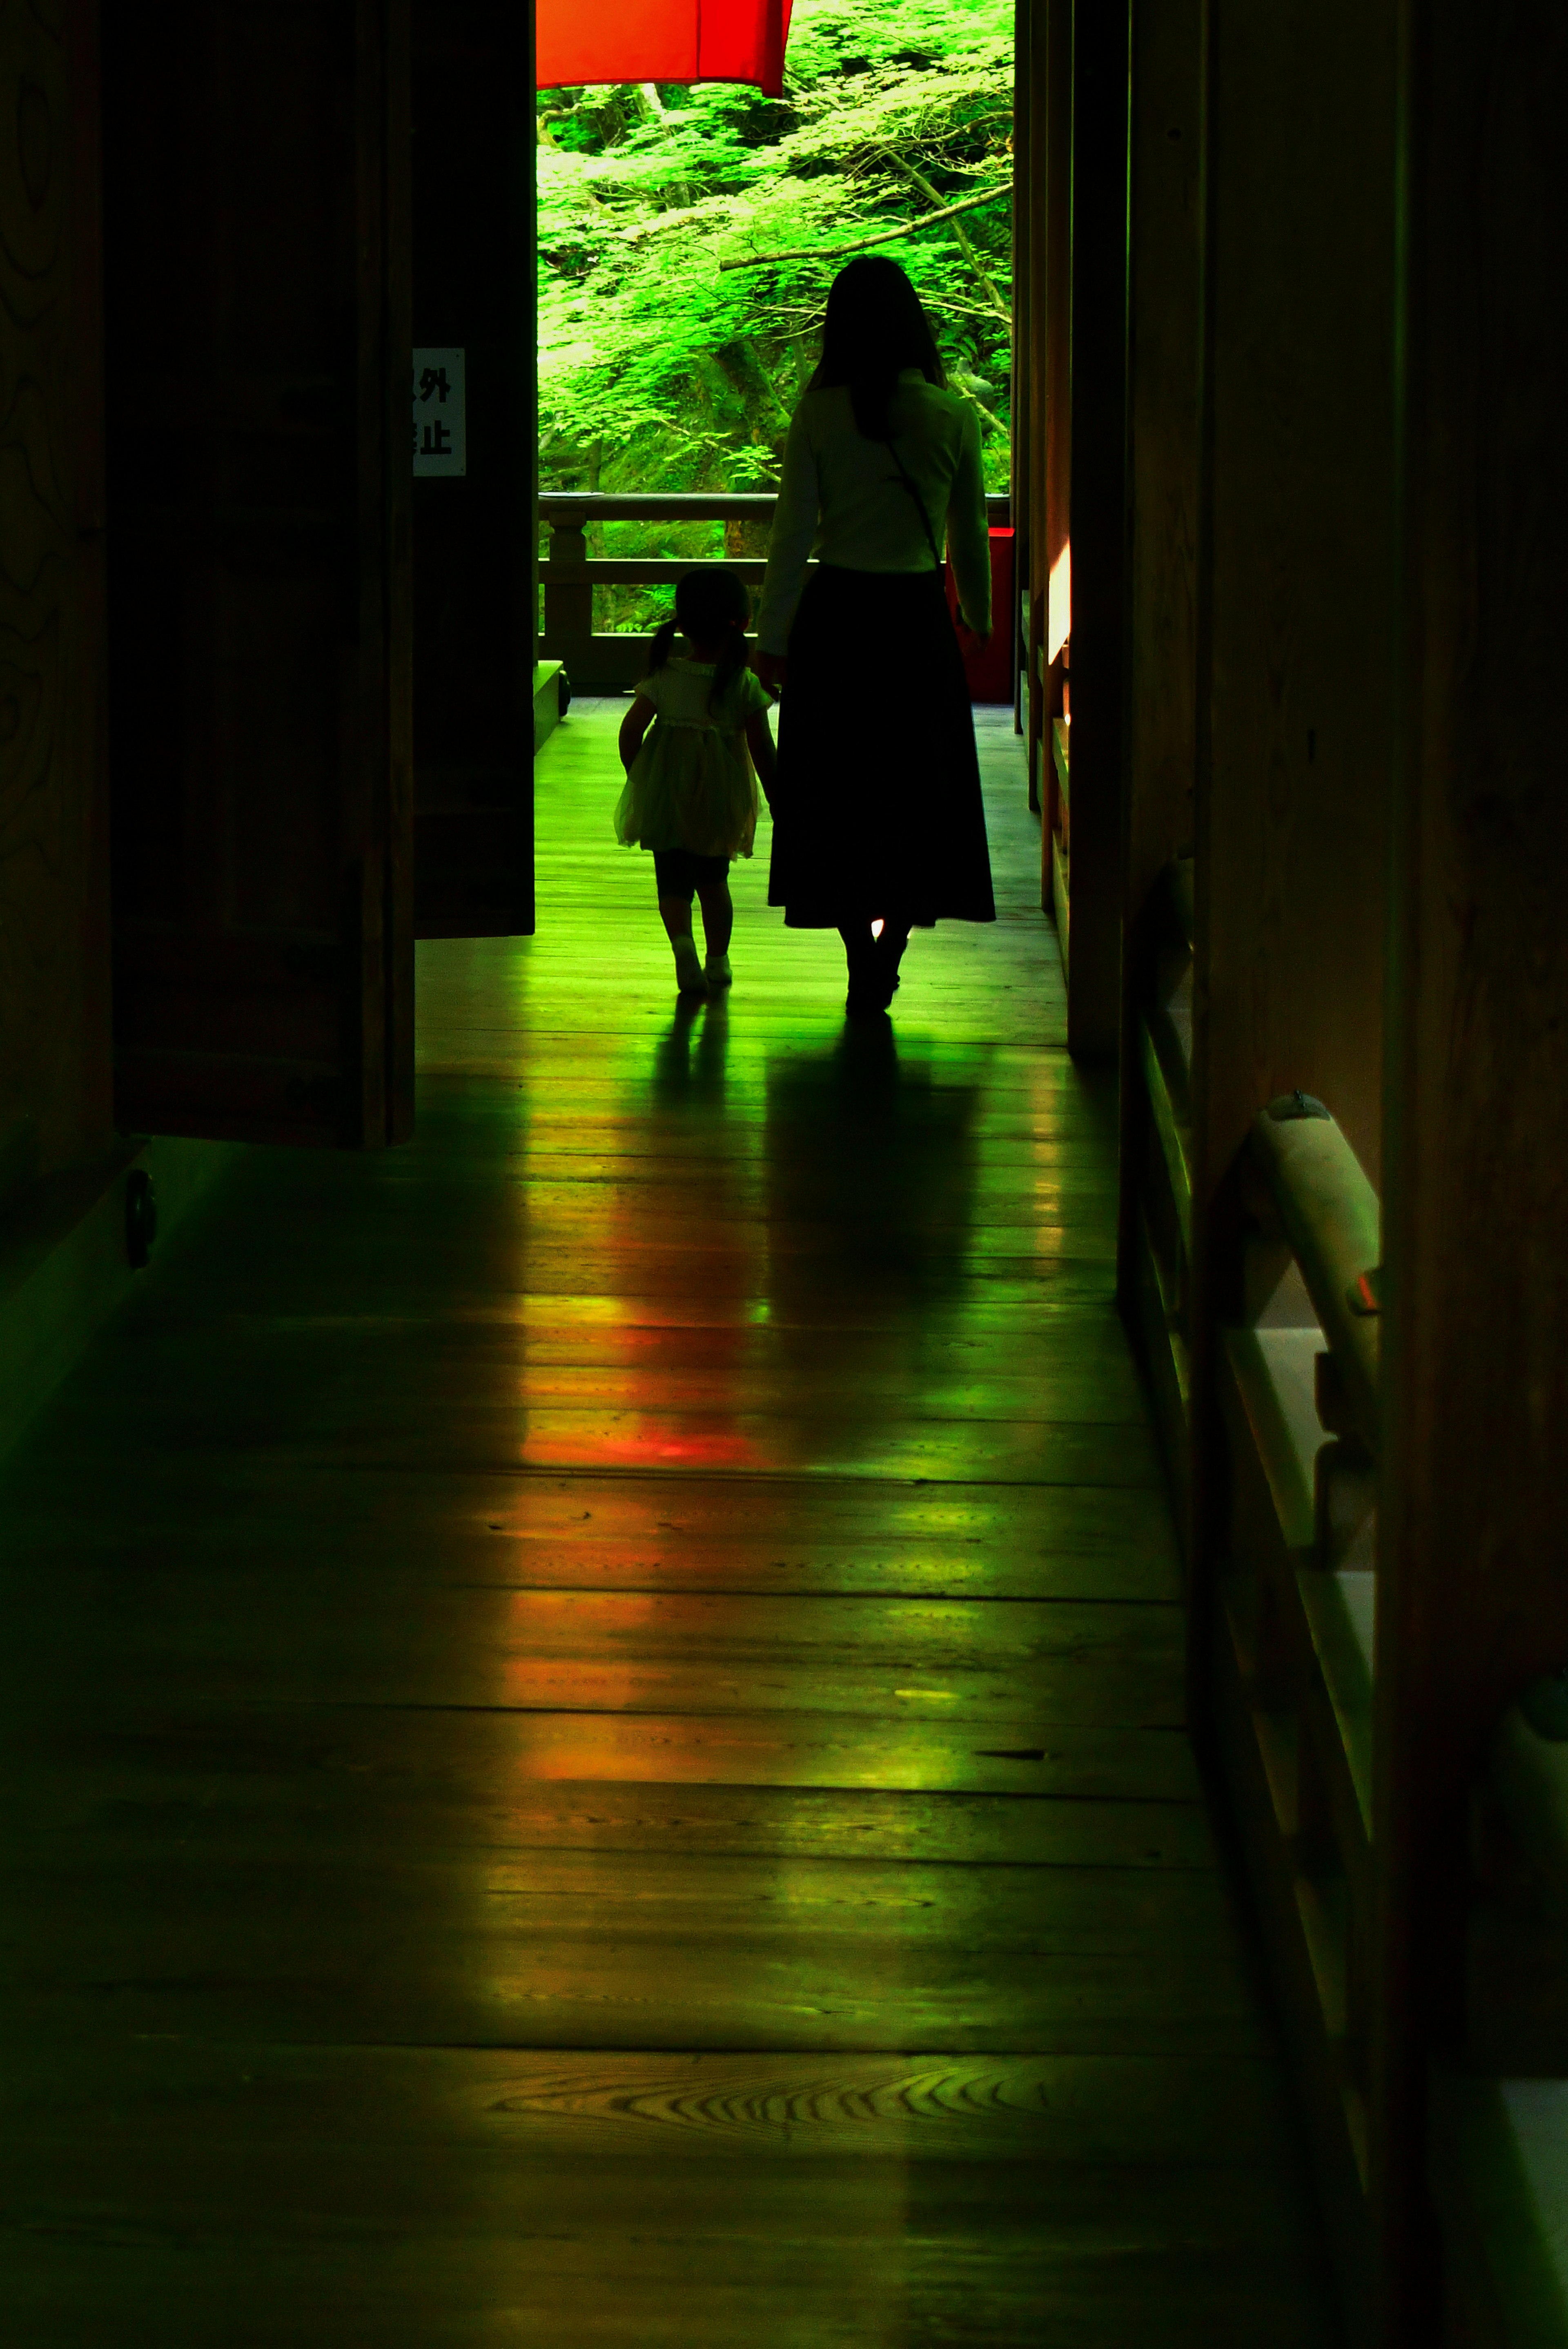
[[[995,921],[974,714],[939,571],[807,580],[789,637],[768,904],[796,930]]]

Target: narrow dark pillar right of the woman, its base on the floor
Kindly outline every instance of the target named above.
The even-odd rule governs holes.
[[[1068,1050],[1113,1055],[1122,965],[1127,554],[1127,0],[1073,7],[1073,782]],[[1063,533],[1066,536],[1066,533]]]

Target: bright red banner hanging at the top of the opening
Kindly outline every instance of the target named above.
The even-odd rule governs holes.
[[[538,0],[538,87],[753,82],[784,89],[791,0]]]

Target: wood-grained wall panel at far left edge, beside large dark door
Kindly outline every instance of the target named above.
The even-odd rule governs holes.
[[[110,1139],[94,14],[0,0],[0,1205]]]

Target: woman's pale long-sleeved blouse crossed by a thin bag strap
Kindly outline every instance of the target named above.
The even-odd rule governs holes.
[[[918,369],[906,369],[890,420],[937,545],[946,524],[962,615],[969,627],[986,630],[991,536],[974,409],[958,392],[937,390]],[[845,571],[932,568],[915,500],[899,479],[892,451],[854,430],[847,388],[805,392],[784,442],[784,477],[756,622],[765,653],[782,653],[789,644],[812,552]]]

